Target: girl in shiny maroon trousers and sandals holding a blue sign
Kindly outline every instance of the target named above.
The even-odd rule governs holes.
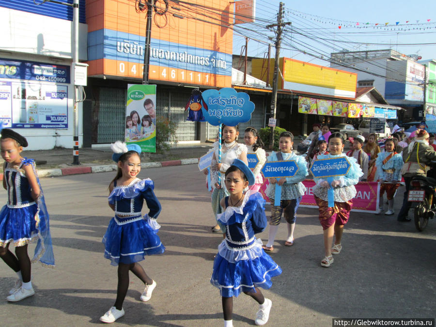
[[[333,133],[328,138],[328,155],[320,155],[317,160],[343,157],[344,138],[341,133]],[[316,204],[319,206],[319,220],[324,230],[324,248],[326,257],[321,261],[323,267],[329,267],[334,259],[332,254],[339,254],[342,250],[341,239],[343,225],[350,216],[353,206],[353,198],[356,196],[356,184],[359,177],[363,175],[357,160],[347,157],[350,167],[345,175],[328,177],[333,181],[329,182],[326,177],[314,178],[316,185],[312,188]],[[328,206],[328,191],[333,188],[334,206]],[[335,243],[332,248],[333,235]]]

